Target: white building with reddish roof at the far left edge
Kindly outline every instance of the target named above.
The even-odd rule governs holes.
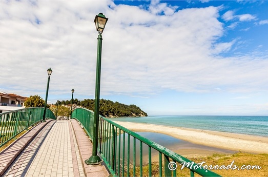
[[[27,97],[0,91],[0,113],[22,109]]]

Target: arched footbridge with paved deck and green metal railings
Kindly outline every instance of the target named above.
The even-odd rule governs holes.
[[[191,166],[173,170],[197,164],[100,115],[94,138],[88,109],[76,108],[70,120],[56,120],[47,108],[43,121],[43,113],[38,107],[0,114],[0,176],[219,176]],[[93,145],[101,162],[88,165]]]

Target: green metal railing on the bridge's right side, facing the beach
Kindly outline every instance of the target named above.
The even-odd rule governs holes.
[[[93,115],[94,112],[84,108],[77,108],[72,114],[91,140]],[[158,176],[177,176],[181,174],[180,164],[185,164],[191,176],[195,173],[220,176],[102,116],[99,116],[98,152],[113,176],[152,176],[156,173]],[[172,166],[169,166],[170,163],[173,163]],[[175,163],[177,169],[171,170]]]

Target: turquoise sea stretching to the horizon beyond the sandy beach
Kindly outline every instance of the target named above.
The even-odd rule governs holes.
[[[268,136],[268,116],[181,115],[120,117],[111,120]]]

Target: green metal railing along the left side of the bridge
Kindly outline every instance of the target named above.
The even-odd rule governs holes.
[[[43,120],[44,108],[31,107],[0,113],[0,147],[12,140],[17,134]],[[47,108],[46,117],[54,119],[54,113]]]

